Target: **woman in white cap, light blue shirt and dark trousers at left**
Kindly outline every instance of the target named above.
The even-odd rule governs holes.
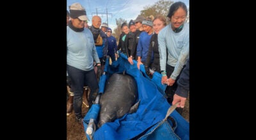
[[[93,42],[92,32],[84,28],[88,20],[80,3],[69,6],[70,22],[67,26],[67,73],[74,93],[73,108],[76,121],[83,125],[82,102],[84,83],[90,88],[89,105],[95,100],[99,83],[93,70],[93,61],[100,67],[100,60]],[[101,71],[98,71],[101,73]],[[90,107],[89,107],[90,108]]]

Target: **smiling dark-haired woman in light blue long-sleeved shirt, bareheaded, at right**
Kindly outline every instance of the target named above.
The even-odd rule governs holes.
[[[189,57],[189,24],[185,23],[187,15],[186,4],[180,1],[173,3],[167,15],[170,24],[158,34],[161,83],[168,85],[165,92],[170,104],[177,89],[176,81],[179,80],[180,71]],[[182,113],[182,109],[176,110]]]

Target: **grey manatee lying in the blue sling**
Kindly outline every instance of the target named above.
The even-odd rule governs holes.
[[[106,82],[104,94],[100,97],[98,126],[100,127],[106,122],[113,122],[126,113],[137,111],[139,104],[139,102],[135,104],[137,96],[137,83],[132,76],[119,73],[112,74]]]

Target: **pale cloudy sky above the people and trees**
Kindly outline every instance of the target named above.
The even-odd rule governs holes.
[[[80,3],[86,10],[86,14],[89,18],[89,25],[92,25],[92,16],[100,16],[102,23],[108,22],[109,27],[113,30],[116,27],[115,19],[123,18],[129,22],[135,20],[140,11],[145,6],[152,6],[159,0],[67,0],[68,6],[72,3]],[[172,0],[182,1],[189,7],[189,0]],[[97,11],[96,11],[97,10]],[[108,10],[108,18],[107,18]]]

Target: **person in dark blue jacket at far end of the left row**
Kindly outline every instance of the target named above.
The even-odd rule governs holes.
[[[108,27],[107,29],[107,36],[108,36],[108,55],[111,58],[111,61],[116,60],[116,50],[117,50],[117,45],[116,45],[116,38],[112,36],[112,29]]]

